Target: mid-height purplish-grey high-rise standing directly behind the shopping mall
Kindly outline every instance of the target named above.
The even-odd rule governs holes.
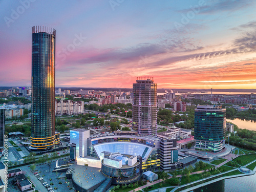
[[[152,79],[133,84],[133,129],[138,134],[157,134],[157,84]]]

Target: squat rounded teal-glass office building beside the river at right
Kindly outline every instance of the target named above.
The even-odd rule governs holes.
[[[220,152],[225,147],[226,109],[201,105],[195,109],[195,139],[198,150]]]

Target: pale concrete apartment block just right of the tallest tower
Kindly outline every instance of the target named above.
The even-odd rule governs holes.
[[[83,101],[55,100],[55,115],[82,114],[83,109]]]

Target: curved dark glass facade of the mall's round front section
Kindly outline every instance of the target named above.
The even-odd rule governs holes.
[[[115,178],[134,177],[140,174],[140,161],[135,166],[131,166],[127,168],[115,168],[115,167],[107,166],[107,165],[104,165],[104,162],[102,161],[101,171],[103,174],[109,177],[115,177]]]

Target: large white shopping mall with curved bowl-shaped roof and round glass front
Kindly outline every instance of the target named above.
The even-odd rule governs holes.
[[[176,139],[130,131],[90,136],[89,130],[76,129],[70,131],[70,143],[77,165],[99,168],[113,184],[136,182],[147,170],[179,166]]]

